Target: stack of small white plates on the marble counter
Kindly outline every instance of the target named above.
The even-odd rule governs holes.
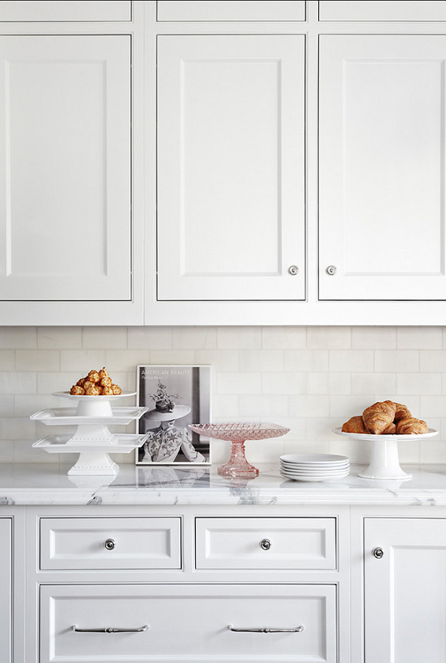
[[[347,476],[347,456],[333,453],[288,453],[280,457],[280,473],[295,481],[329,481]]]

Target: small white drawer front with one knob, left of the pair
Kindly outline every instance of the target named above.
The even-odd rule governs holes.
[[[180,569],[179,518],[42,518],[40,570]]]

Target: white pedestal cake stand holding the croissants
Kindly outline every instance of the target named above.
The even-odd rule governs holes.
[[[438,435],[438,430],[429,428],[428,433],[421,433],[421,435],[369,435],[364,433],[344,433],[341,430],[342,426],[333,428],[333,433],[356,439],[359,441],[366,440],[371,443],[371,453],[369,467],[363,472],[358,472],[358,476],[365,479],[399,479],[400,481],[407,481],[412,478],[412,475],[404,472],[399,467],[398,456],[398,442],[418,442],[420,439],[426,437],[433,437]]]

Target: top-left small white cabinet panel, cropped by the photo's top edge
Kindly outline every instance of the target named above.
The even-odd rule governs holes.
[[[0,21],[130,21],[131,2],[125,0],[2,0]]]

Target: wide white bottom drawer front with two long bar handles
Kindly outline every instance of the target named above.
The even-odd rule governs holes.
[[[40,663],[338,660],[334,585],[43,585],[40,629]]]

